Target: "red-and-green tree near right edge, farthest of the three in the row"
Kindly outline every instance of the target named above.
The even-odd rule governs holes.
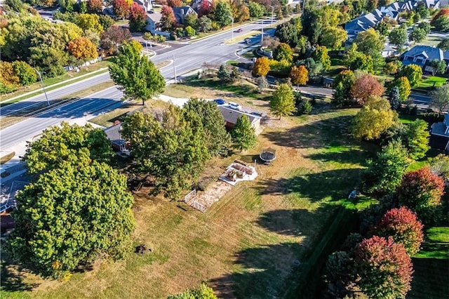
[[[415,211],[424,224],[438,221],[444,181],[440,176],[431,173],[429,167],[403,175],[396,194],[399,204]]]

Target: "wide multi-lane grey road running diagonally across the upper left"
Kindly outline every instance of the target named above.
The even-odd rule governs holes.
[[[260,30],[262,25],[267,26],[269,21],[254,22],[249,25],[243,25],[242,32],[234,32],[234,39],[241,35],[248,34],[251,30]],[[234,29],[236,29],[235,27]],[[265,30],[264,34],[273,34],[274,29]],[[232,32],[223,32],[215,36],[210,36],[207,39],[197,41],[192,44],[187,44],[183,47],[173,47],[172,51],[158,54],[152,57],[154,63],[159,63],[175,58],[175,67],[177,75],[191,71],[192,69],[199,69],[204,62],[214,64],[221,64],[227,60],[236,59],[235,51],[242,49],[248,45],[243,41],[236,44],[225,44],[232,38]],[[255,38],[257,39],[257,37]],[[260,34],[258,39],[260,40]],[[257,40],[255,40],[257,41]],[[166,80],[174,78],[173,63],[161,69],[161,73]],[[109,74],[101,74],[91,79],[87,79],[76,84],[70,84],[64,88],[48,92],[50,99],[61,98],[65,95],[76,93],[80,89],[88,88],[96,84],[100,84],[109,79]],[[43,129],[48,126],[59,124],[61,121],[70,121],[74,119],[83,118],[86,114],[98,114],[114,106],[121,105],[119,101],[122,93],[115,87],[108,88],[105,91],[100,91],[90,95],[88,98],[74,100],[58,108],[49,109],[42,114],[38,114],[32,118],[21,121],[18,124],[5,128],[0,131],[0,150],[6,150],[19,142],[30,140],[36,135],[39,135]],[[43,95],[39,95],[29,100],[18,102],[12,105],[2,107],[1,116],[14,116],[20,109],[29,108],[29,105],[36,105],[36,102],[44,102]]]

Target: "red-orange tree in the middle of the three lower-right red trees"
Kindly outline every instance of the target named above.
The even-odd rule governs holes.
[[[379,223],[375,226],[373,234],[380,237],[392,237],[396,243],[406,247],[409,255],[415,255],[420,251],[424,239],[422,223],[416,214],[408,208],[392,208],[387,211]]]

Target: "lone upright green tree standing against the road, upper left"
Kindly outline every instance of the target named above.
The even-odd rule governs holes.
[[[126,98],[145,100],[163,91],[166,81],[159,69],[145,55],[140,55],[137,41],[125,43],[109,65],[109,74]]]

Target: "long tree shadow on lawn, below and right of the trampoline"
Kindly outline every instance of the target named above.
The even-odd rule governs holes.
[[[304,173],[293,178],[260,180],[255,187],[260,195],[297,194],[310,201],[344,199],[360,182],[361,169],[349,168],[319,173]],[[346,190],[346,192],[344,192]]]

